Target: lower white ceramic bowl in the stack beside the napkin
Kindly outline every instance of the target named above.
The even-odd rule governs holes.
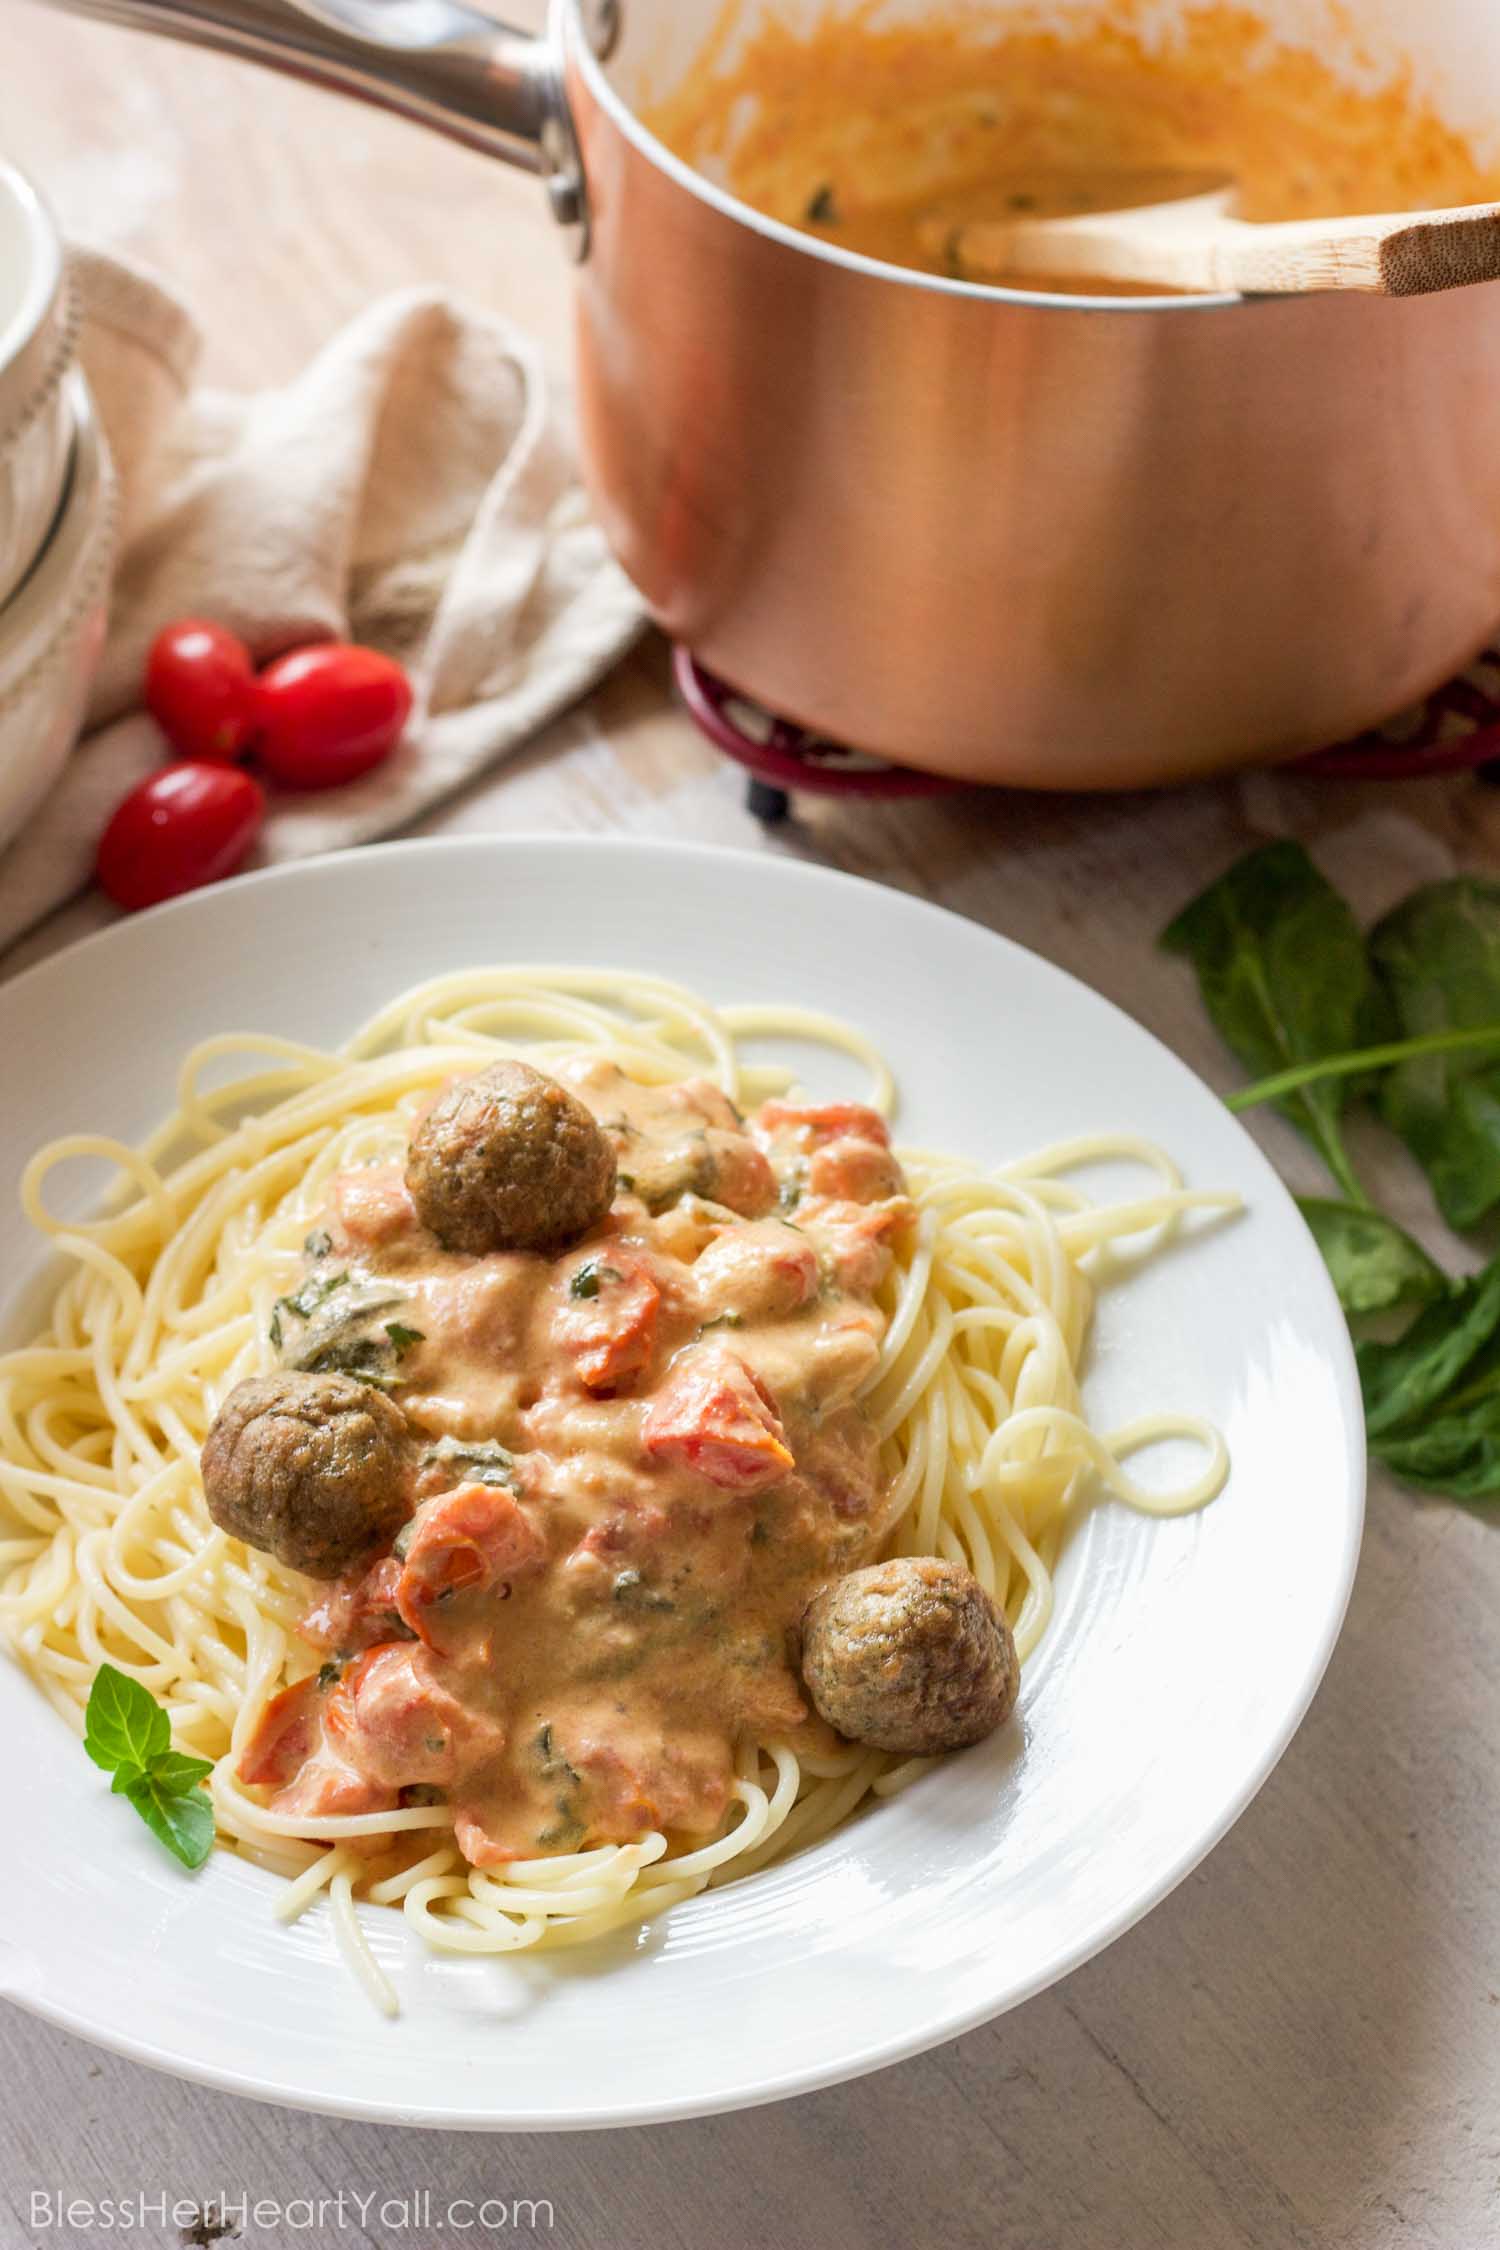
[[[72,749],[103,648],[115,560],[115,472],[83,376],[58,392],[72,443],[40,556],[0,605],[0,846]]]

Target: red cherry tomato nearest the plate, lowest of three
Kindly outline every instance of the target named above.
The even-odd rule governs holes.
[[[94,875],[117,907],[155,907],[232,875],[256,839],[265,792],[238,765],[178,758],[115,806]]]

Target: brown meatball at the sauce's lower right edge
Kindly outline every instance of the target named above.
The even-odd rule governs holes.
[[[1010,1717],[1021,1665],[1003,1611],[969,1570],[897,1555],[812,1598],[803,1678],[839,1735],[933,1757]]]

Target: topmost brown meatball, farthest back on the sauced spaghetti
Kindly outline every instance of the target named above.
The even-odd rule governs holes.
[[[439,1094],[412,1134],[407,1188],[445,1249],[555,1251],[614,1202],[614,1150],[555,1078],[495,1062]]]

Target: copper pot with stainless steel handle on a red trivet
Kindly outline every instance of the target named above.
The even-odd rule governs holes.
[[[553,0],[542,40],[448,0],[63,4],[540,171],[607,536],[668,632],[821,734],[994,783],[1178,781],[1358,734],[1500,619],[1500,284],[1106,302],[850,256],[632,115],[625,50],[672,0],[618,0],[616,56],[616,0]]]

